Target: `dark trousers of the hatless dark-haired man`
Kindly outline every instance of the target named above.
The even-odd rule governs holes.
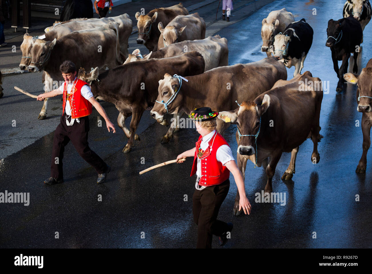
[[[106,163],[88,145],[89,116],[79,118],[80,123],[75,120],[72,126],[66,125],[65,117],[66,113],[61,116],[60,124],[54,132],[51,177],[63,179],[63,152],[70,140],[81,158],[94,167],[97,173],[104,173]],[[71,117],[68,118],[68,122],[70,121]],[[55,159],[56,157],[58,157],[58,161]]]

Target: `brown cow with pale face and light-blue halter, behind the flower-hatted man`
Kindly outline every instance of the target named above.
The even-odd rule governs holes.
[[[203,106],[214,111],[233,110],[235,100],[253,100],[279,79],[286,80],[287,71],[282,62],[271,56],[258,62],[217,67],[185,78],[188,82],[182,81],[181,87],[179,79],[168,73],[159,81],[157,103],[151,110],[151,116],[159,123],[163,122],[166,113],[183,110],[188,114]],[[173,101],[170,101],[171,97],[174,97]],[[167,110],[163,103],[158,103],[162,101],[170,101]],[[217,131],[222,133],[229,125],[218,120]]]

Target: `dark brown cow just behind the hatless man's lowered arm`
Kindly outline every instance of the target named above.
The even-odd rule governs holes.
[[[196,75],[203,71],[202,55],[192,51],[176,57],[123,64],[94,78],[99,80],[91,84],[94,97],[100,96],[115,104],[120,112],[118,125],[129,138],[123,152],[131,151],[142,114],[156,100],[158,79],[166,72]],[[125,127],[125,119],[129,116],[132,116],[130,131]]]

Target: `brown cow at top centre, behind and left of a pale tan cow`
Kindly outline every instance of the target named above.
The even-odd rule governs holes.
[[[157,51],[160,31],[158,23],[163,22],[166,26],[177,15],[188,15],[189,12],[182,3],[171,7],[161,7],[159,9],[151,10],[147,15],[136,13],[138,28],[137,44],[144,44],[148,51]]]

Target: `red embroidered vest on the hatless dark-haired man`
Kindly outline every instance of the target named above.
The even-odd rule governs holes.
[[[65,112],[66,106],[66,95],[68,95],[68,101],[70,102],[71,107],[71,118],[80,118],[88,116],[92,113],[92,104],[86,100],[83,95],[81,95],[81,88],[83,85],[88,85],[83,80],[77,79],[74,91],[71,91],[70,94],[67,94],[67,82],[63,84],[63,105],[62,105],[62,115]],[[89,85],[88,85],[89,86]],[[74,86],[73,86],[74,87]]]

